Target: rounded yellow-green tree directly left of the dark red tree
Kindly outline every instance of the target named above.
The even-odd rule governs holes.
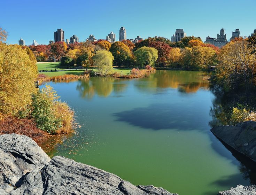
[[[145,67],[146,65],[150,65],[154,67],[158,57],[157,53],[158,53],[157,49],[153,47],[143,46],[137,49],[134,52],[134,55],[137,59],[138,64],[140,64],[142,67]]]

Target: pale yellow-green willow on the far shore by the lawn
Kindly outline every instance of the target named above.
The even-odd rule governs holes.
[[[97,51],[93,56],[93,61],[95,62],[98,71],[103,75],[108,75],[111,70],[113,70],[114,57],[106,50]]]

